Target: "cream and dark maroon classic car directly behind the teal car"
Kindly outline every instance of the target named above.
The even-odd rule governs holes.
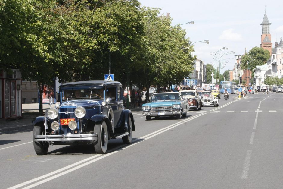
[[[196,90],[182,90],[180,93],[182,94],[183,98],[188,99],[190,109],[194,109],[195,111],[201,110],[203,105],[201,102],[201,97]]]

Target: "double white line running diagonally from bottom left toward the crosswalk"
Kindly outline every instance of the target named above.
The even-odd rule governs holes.
[[[25,186],[25,185],[27,185],[27,184],[31,184],[31,183],[33,183],[33,182],[35,182],[35,181],[38,181],[38,180],[41,180],[41,179],[43,179],[43,178],[46,178],[46,177],[51,176],[51,177],[46,178],[46,179],[44,179],[44,180],[42,180],[42,181],[39,181],[39,182],[34,183],[34,184],[32,184],[32,185],[29,185],[29,186],[27,186],[27,187],[25,187],[25,188],[32,188],[32,187],[38,186],[38,185],[43,184],[43,183],[45,183],[45,182],[48,182],[48,181],[50,181],[50,180],[52,180],[52,179],[58,178],[59,176],[65,175],[65,174],[67,174],[67,173],[69,173],[69,172],[72,172],[72,171],[74,171],[74,170],[76,170],[76,169],[79,169],[79,168],[82,168],[82,167],[84,167],[84,166],[86,166],[86,165],[89,165],[90,163],[96,162],[96,161],[98,161],[98,160],[100,160],[100,159],[102,159],[102,158],[104,158],[104,157],[110,156],[110,155],[112,155],[112,154],[114,154],[114,153],[117,153],[117,152],[119,152],[119,151],[121,151],[121,150],[124,150],[124,149],[126,149],[126,148],[129,148],[129,147],[131,147],[131,146],[133,146],[133,145],[136,145],[136,144],[138,144],[138,143],[140,143],[140,142],[142,142],[142,141],[148,140],[148,139],[150,139],[150,138],[152,138],[152,137],[154,137],[154,136],[157,136],[158,134],[161,134],[161,133],[163,133],[163,132],[165,132],[165,131],[168,131],[168,130],[174,128],[174,127],[177,127],[177,126],[179,126],[179,125],[181,125],[181,124],[183,124],[183,123],[186,123],[186,122],[188,122],[188,121],[191,121],[191,120],[193,120],[193,119],[195,119],[195,118],[198,118],[198,117],[200,117],[200,116],[202,116],[202,115],[205,115],[205,114],[207,114],[207,113],[202,113],[202,114],[193,116],[193,117],[191,117],[191,118],[184,119],[184,120],[182,120],[182,121],[179,121],[179,122],[177,122],[177,123],[174,123],[174,124],[172,124],[172,125],[169,125],[169,126],[167,126],[167,127],[165,127],[165,128],[162,128],[162,129],[159,129],[159,130],[157,130],[157,131],[154,131],[154,132],[152,132],[152,133],[150,133],[150,134],[147,134],[147,135],[145,135],[145,136],[143,136],[143,137],[141,137],[141,138],[137,138],[137,139],[133,140],[133,141],[132,141],[133,143],[130,144],[130,145],[128,145],[128,146],[126,146],[126,144],[125,144],[125,145],[118,146],[118,147],[116,147],[116,148],[110,150],[109,153],[104,154],[104,155],[95,154],[94,156],[91,156],[91,157],[89,157],[89,158],[83,159],[83,160],[81,160],[81,161],[79,161],[79,162],[73,163],[73,164],[71,164],[71,165],[68,165],[68,166],[66,166],[66,167],[63,167],[63,168],[58,169],[58,170],[56,170],[56,171],[53,171],[53,172],[51,172],[51,173],[48,173],[48,174],[42,175],[42,176],[40,176],[40,177],[34,178],[34,179],[30,180],[30,181],[26,181],[26,182],[17,184],[17,185],[15,185],[15,186],[13,186],[13,187],[10,187],[10,188],[8,188],[8,189],[19,188],[19,187]],[[122,146],[125,146],[125,147],[121,149]],[[99,157],[99,156],[100,156],[100,157]],[[89,161],[89,160],[91,160],[91,161]],[[86,161],[89,161],[89,162],[86,162]],[[86,162],[86,163],[83,163],[83,162]],[[81,164],[81,163],[83,163],[83,164]],[[81,165],[79,165],[79,164],[81,164]],[[72,168],[72,167],[73,167],[73,168]],[[68,170],[66,170],[66,169],[68,169]],[[64,171],[64,170],[66,170],[66,171]],[[62,172],[62,171],[64,171],[64,172]],[[59,173],[59,172],[61,172],[61,173]],[[59,173],[59,174],[57,174],[57,173]],[[54,175],[54,174],[57,174],[57,175]]]

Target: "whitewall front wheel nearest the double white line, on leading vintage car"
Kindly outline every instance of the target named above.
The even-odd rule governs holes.
[[[94,143],[94,149],[97,154],[104,154],[108,145],[108,130],[105,121],[94,126],[94,133],[97,134],[97,140]]]

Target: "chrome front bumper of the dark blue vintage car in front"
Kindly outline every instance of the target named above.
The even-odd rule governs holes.
[[[34,135],[35,142],[98,140],[97,134]]]

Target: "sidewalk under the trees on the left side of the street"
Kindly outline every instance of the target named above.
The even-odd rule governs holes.
[[[54,104],[52,105],[52,107]],[[43,104],[43,113],[49,108],[48,104]],[[0,121],[0,135],[5,134],[5,132],[25,132],[32,131],[34,124],[32,123],[33,118],[40,116],[39,107],[37,103],[22,104],[22,118],[15,120],[4,120]],[[142,107],[139,108],[129,108],[131,111],[142,111]]]

